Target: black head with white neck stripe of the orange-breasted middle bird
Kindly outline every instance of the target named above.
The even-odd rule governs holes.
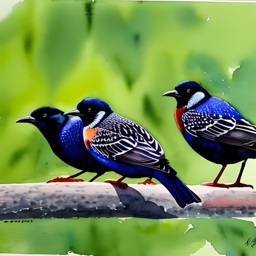
[[[102,100],[96,98],[86,98],[78,103],[77,108],[70,110],[64,115],[79,116],[85,127],[97,127],[113,110]]]

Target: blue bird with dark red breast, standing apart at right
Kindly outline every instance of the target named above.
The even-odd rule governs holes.
[[[183,81],[175,90],[163,96],[177,100],[175,120],[188,144],[207,160],[221,164],[222,168],[213,182],[201,185],[213,187],[251,187],[241,183],[248,158],[256,158],[256,126],[247,122],[226,101],[213,97],[193,81]],[[243,161],[234,184],[218,183],[228,164]]]

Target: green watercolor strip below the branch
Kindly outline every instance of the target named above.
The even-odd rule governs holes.
[[[194,228],[184,235],[190,224]],[[5,234],[0,239],[0,252],[4,253],[190,256],[205,240],[227,256],[254,256],[256,251],[252,244],[246,246],[249,238],[256,237],[253,222],[232,218],[34,219],[32,223],[0,221],[0,230]]]

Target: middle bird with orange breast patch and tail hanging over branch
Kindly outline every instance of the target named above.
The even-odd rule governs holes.
[[[125,177],[155,178],[172,194],[181,208],[201,202],[169,165],[157,140],[138,124],[114,113],[104,101],[82,100],[77,109],[64,115],[79,116],[84,125],[83,137],[88,151],[100,163],[123,177],[110,183],[121,183]]]

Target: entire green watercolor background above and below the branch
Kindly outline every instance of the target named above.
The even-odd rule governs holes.
[[[16,4],[0,21],[0,183],[76,173],[34,126],[14,122],[41,106],[73,109],[85,97],[107,101],[150,131],[186,184],[212,181],[220,166],[188,146],[174,121],[175,100],[161,95],[182,80],[195,80],[256,124],[255,12],[256,4],[247,3]],[[255,167],[249,160],[242,182],[256,185]],[[221,182],[234,182],[239,169],[240,163],[228,166]],[[107,173],[97,181],[118,177]],[[143,179],[127,179],[138,181]],[[195,228],[184,236],[190,223]],[[256,248],[244,245],[249,237],[256,237],[252,222],[226,218],[0,222],[5,253],[176,256],[196,252],[207,239],[218,253],[255,255]]]

